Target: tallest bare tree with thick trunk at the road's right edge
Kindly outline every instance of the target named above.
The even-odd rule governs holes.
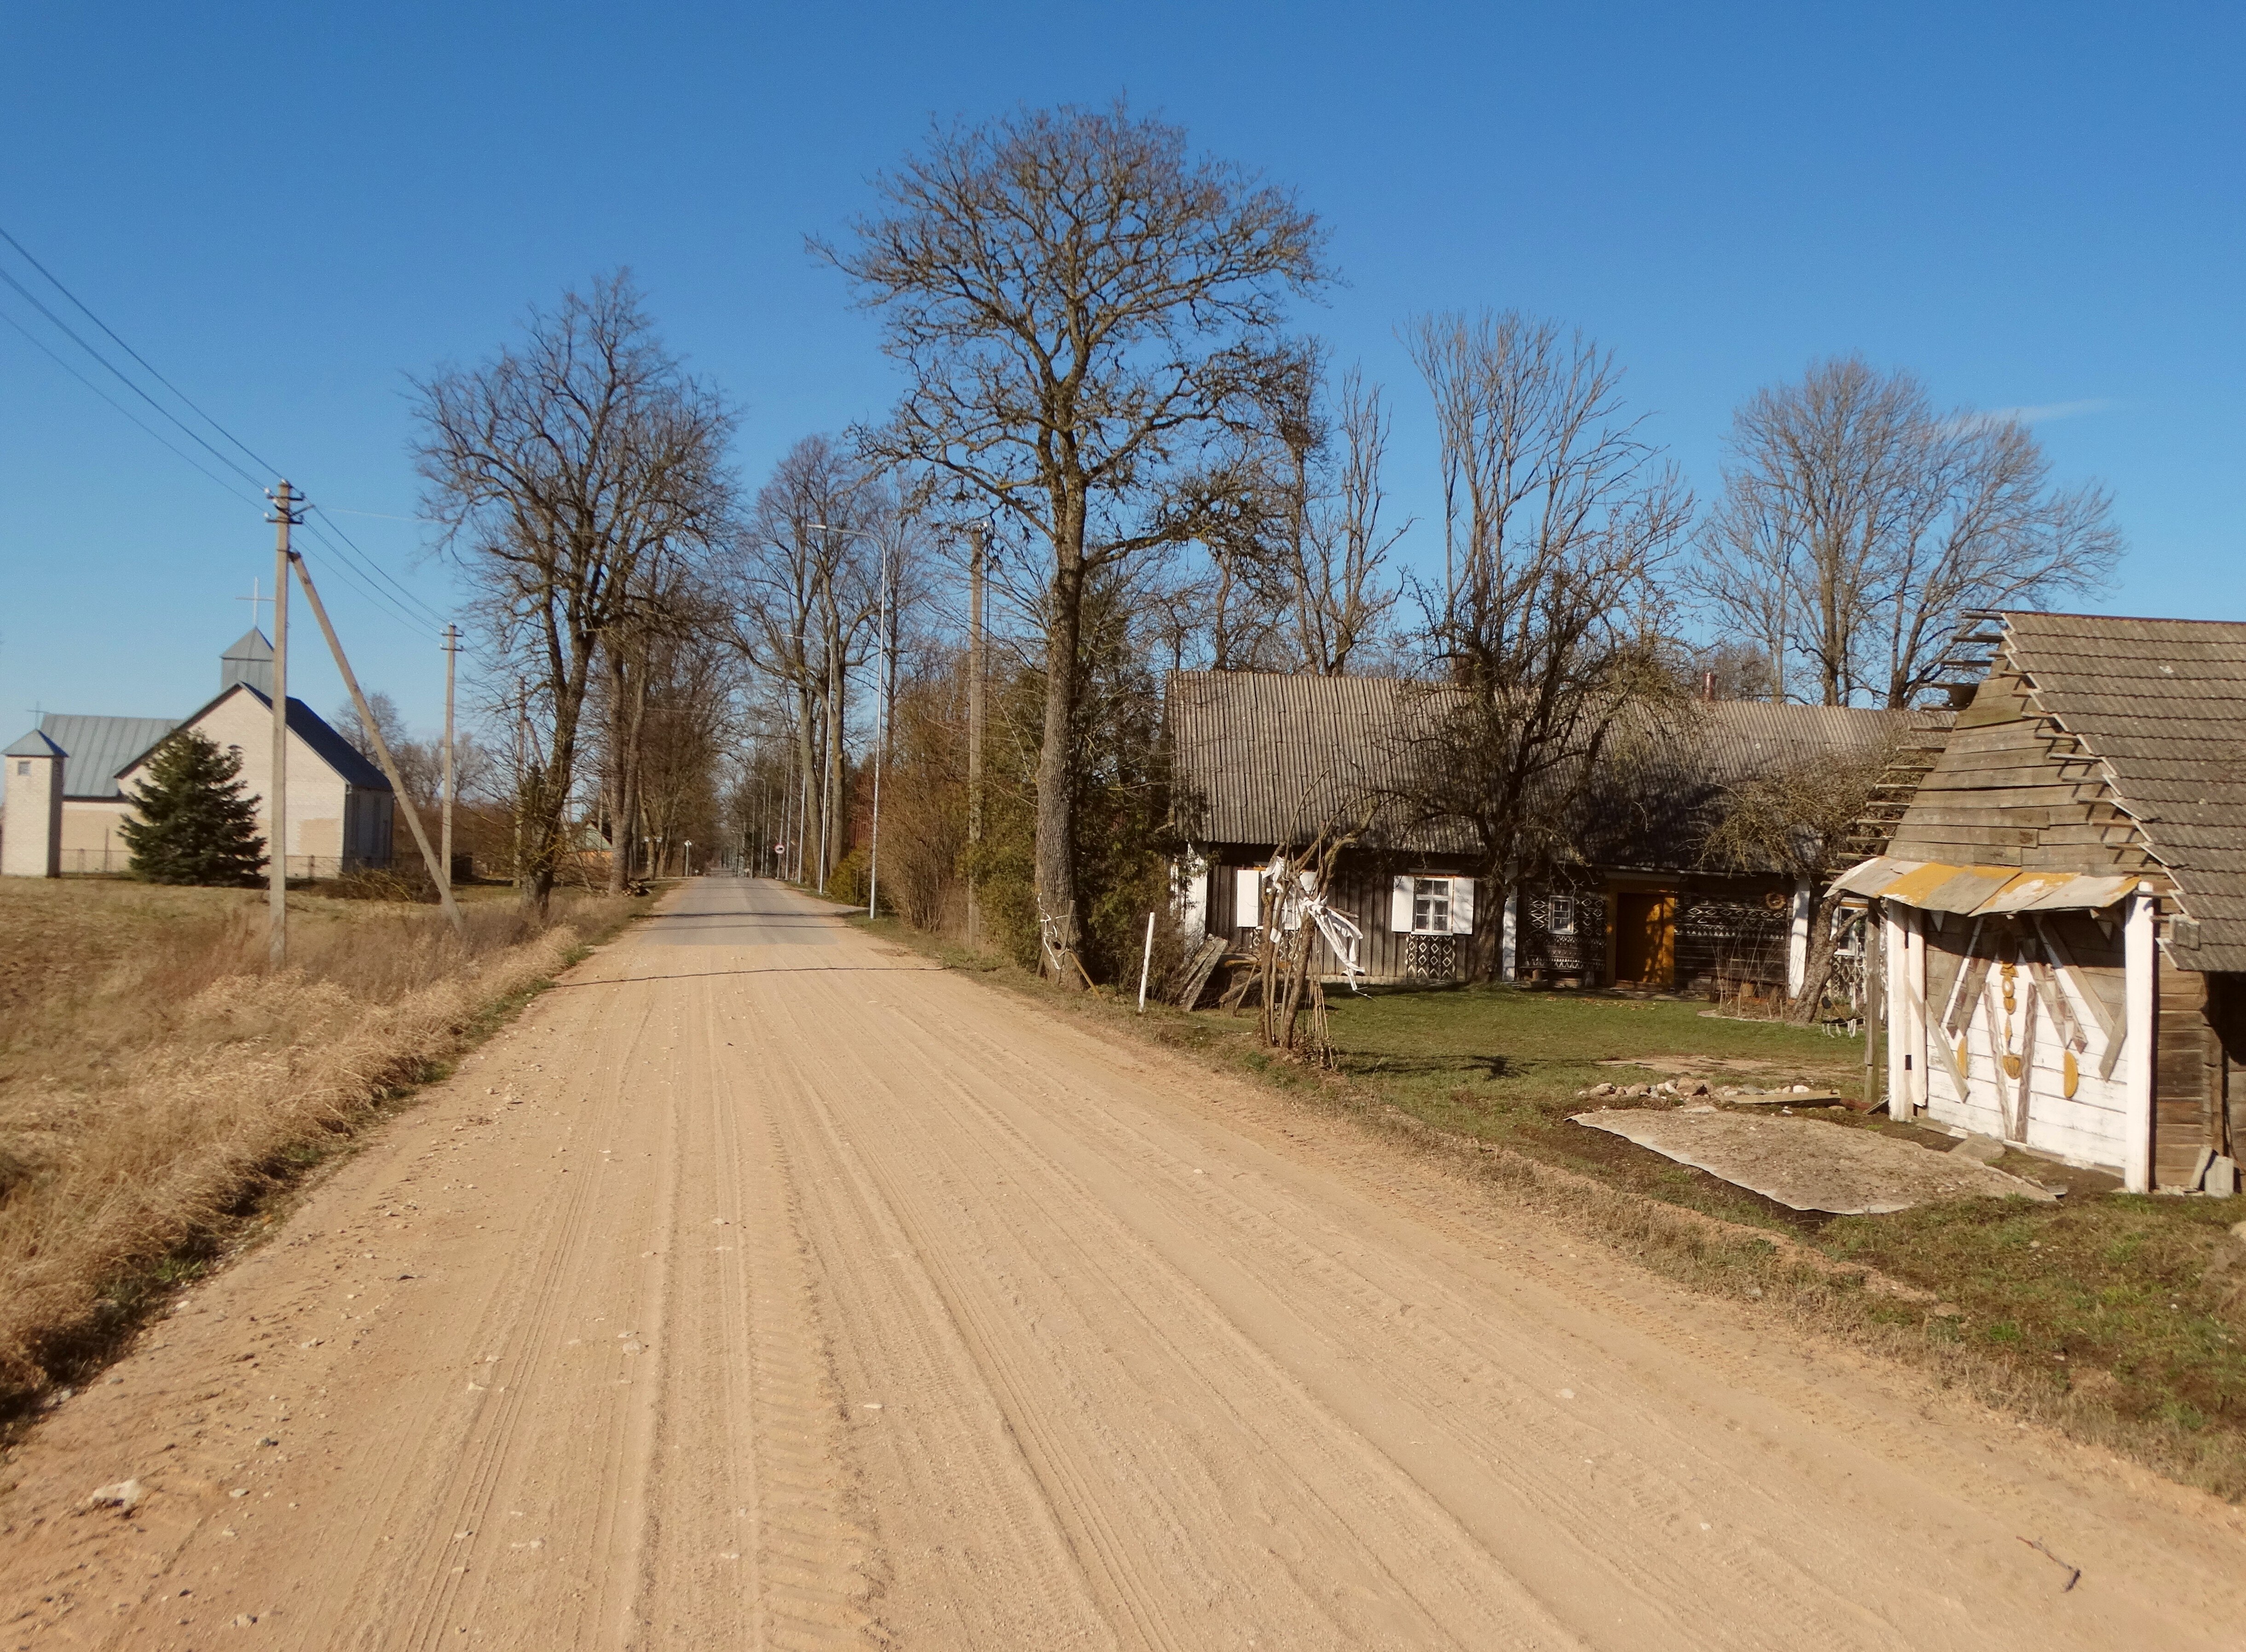
[[[910,379],[865,444],[1051,548],[1035,900],[1069,979],[1087,579],[1195,536],[1166,483],[1256,393],[1282,299],[1323,281],[1321,231],[1291,193],[1121,105],[937,130],[878,191],[849,251],[813,242],[883,312]]]

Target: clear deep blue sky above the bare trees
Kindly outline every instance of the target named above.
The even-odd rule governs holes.
[[[804,236],[930,117],[1127,94],[1327,220],[1348,285],[1305,323],[1390,386],[1422,545],[1395,330],[1487,303],[1613,346],[1702,489],[1738,400],[1819,355],[2042,409],[2131,541],[2100,606],[2246,620],[2242,70],[2237,4],[18,4],[0,227],[449,611],[407,373],[631,265],[755,480],[894,388]],[[7,734],[193,709],[270,534],[0,325]],[[362,678],[433,723],[433,637],[330,561]]]

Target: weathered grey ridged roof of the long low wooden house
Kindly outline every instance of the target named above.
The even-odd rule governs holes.
[[[1177,824],[1204,844],[1289,844],[1408,788],[1424,761],[1410,734],[1442,716],[1453,689],[1399,678],[1175,671],[1168,694]],[[1871,756],[1902,727],[1938,729],[1947,712],[1691,700],[1660,729],[1617,743],[1581,833],[1601,866],[1687,869],[1727,788],[1826,756]],[[1462,824],[1395,830],[1399,808],[1370,810],[1372,833],[1422,853],[1471,853]]]

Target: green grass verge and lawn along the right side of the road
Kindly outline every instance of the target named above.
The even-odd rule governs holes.
[[[2246,1241],[2230,1237],[2230,1223],[2246,1217],[2242,1201],[2122,1196],[2096,1174],[2008,1154],[2003,1169],[2064,1181],[2066,1199],[1801,1214],[1570,1125],[1568,1113],[1583,1111],[1577,1091],[1590,1084],[1676,1073],[1860,1095],[1855,1041],[1716,1019],[1689,1001],[1516,988],[1370,992],[1334,999],[1341,1055],[1327,1073],[1260,1048],[1253,1017],[1152,1003],[1139,1017],[1130,999],[1065,994],[892,920],[858,923],[1042,1008],[1354,1113],[1669,1279],[1761,1300],[2024,1421],[2233,1502],[2246,1497]],[[1938,1140],[1837,1109],[1819,1118],[1833,1129]]]

